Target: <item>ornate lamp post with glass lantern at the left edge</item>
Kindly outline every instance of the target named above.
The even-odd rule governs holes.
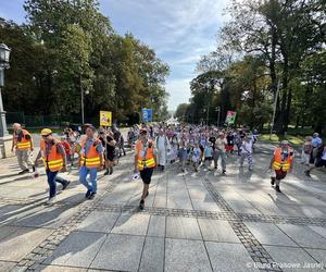
[[[9,69],[9,57],[11,49],[4,44],[0,45],[0,148],[2,158],[5,158],[4,137],[9,135],[5,122],[5,111],[3,110],[1,87],[4,86],[4,70]]]

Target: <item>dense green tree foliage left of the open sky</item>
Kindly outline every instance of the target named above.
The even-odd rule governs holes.
[[[24,8],[26,25],[0,21],[0,40],[12,48],[7,111],[79,115],[84,91],[89,118],[109,110],[125,122],[141,108],[166,118],[168,66],[133,35],[117,35],[97,0],[26,0]]]

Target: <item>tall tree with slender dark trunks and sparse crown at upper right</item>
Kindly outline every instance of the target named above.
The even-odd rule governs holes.
[[[293,87],[303,72],[302,64],[325,48],[325,8],[322,0],[235,0],[227,10],[231,20],[220,32],[222,41],[201,59],[198,69],[223,72],[246,55],[259,57],[268,70],[268,89],[274,98],[280,82],[276,119],[277,131],[283,134],[291,121]]]

